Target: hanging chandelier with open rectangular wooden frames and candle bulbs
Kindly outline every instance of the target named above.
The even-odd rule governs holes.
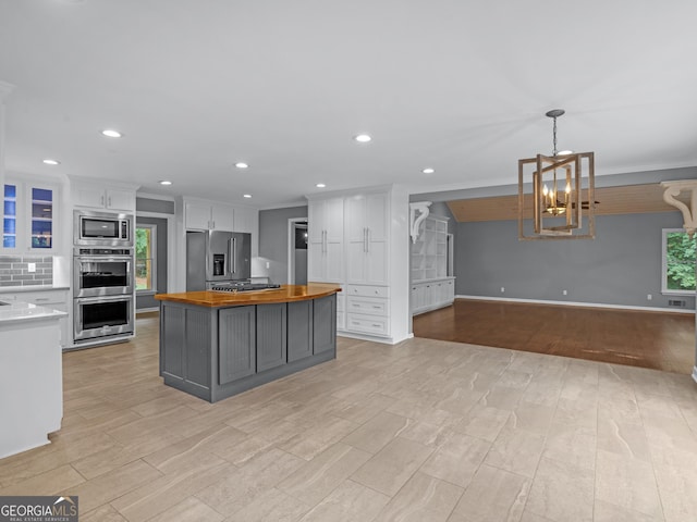
[[[554,121],[552,156],[518,160],[518,239],[596,236],[594,153],[557,150],[557,119],[563,114],[563,109],[546,113]]]

